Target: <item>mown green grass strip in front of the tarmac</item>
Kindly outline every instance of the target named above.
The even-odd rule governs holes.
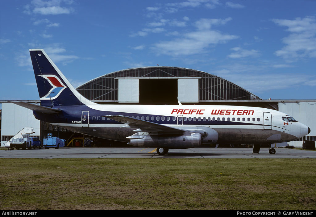
[[[315,210],[314,159],[0,159],[0,209]]]

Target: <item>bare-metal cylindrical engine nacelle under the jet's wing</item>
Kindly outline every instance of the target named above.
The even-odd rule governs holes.
[[[189,149],[201,145],[200,133],[187,133],[182,136],[139,135],[135,133],[127,137],[130,145],[138,147],[159,147],[169,149]]]

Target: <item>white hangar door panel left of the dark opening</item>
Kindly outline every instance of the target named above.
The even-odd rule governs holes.
[[[119,79],[119,103],[138,103],[138,89],[138,79]]]

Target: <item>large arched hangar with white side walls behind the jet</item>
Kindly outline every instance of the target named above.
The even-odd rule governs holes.
[[[229,78],[228,78],[229,79]],[[79,86],[82,96],[100,104],[194,104],[238,105],[270,108],[293,116],[311,132],[289,146],[302,147],[316,140],[316,100],[263,100],[246,89],[216,75],[181,67],[130,68],[102,75]],[[14,99],[13,99],[14,100]],[[39,104],[39,100],[27,100]],[[33,127],[41,139],[47,133],[70,141],[74,132],[36,120],[31,110],[7,101],[2,103],[1,146],[23,127]],[[89,117],[95,118],[95,117]]]

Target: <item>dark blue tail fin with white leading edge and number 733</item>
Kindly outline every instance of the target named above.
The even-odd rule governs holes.
[[[76,91],[43,49],[30,49],[30,55],[42,106],[94,104]]]

